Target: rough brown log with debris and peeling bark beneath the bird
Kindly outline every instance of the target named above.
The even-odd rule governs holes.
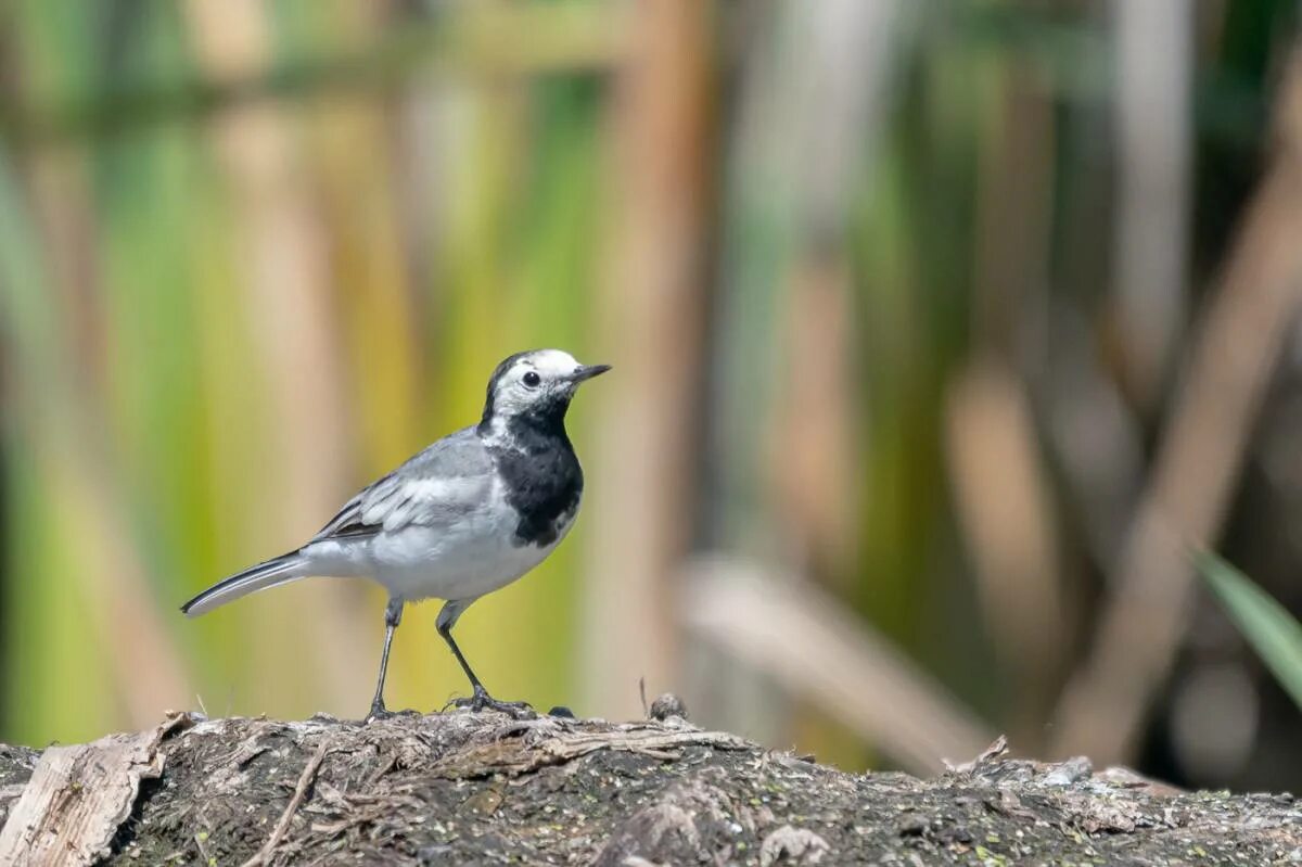
[[[1302,863],[1285,794],[1186,793],[1003,743],[845,773],[678,717],[202,720],[0,747],[4,864]]]

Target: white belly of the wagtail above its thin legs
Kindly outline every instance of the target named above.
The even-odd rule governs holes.
[[[546,547],[516,544],[517,522],[505,500],[493,496],[444,526],[408,525],[367,539],[318,542],[303,553],[312,574],[371,578],[397,599],[474,599],[540,564],[565,538],[574,516]]]

